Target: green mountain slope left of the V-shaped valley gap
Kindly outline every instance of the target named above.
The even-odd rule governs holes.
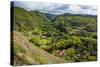
[[[42,29],[43,26],[49,22],[48,18],[38,11],[30,12],[19,7],[14,7],[13,10],[14,30],[26,33],[34,30],[34,28]]]

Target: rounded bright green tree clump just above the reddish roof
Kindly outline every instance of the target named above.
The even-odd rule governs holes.
[[[59,40],[56,44],[56,48],[62,49],[62,48],[69,48],[69,47],[72,47],[72,46],[80,47],[82,45],[83,45],[83,42],[80,40],[79,37],[71,36],[67,40],[65,40],[65,39]]]

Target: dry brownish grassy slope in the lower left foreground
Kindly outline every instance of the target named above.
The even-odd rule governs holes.
[[[27,41],[27,39],[19,32],[13,33],[14,41],[14,65],[27,64],[50,64],[67,62],[61,58],[55,57],[34,44]]]

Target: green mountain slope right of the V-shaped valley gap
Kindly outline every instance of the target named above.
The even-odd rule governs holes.
[[[68,28],[76,29],[76,30],[86,30],[88,32],[96,32],[97,30],[97,19],[96,16],[92,15],[82,15],[82,14],[63,14],[57,16],[53,20],[54,26],[59,29],[61,26],[65,27],[64,29],[67,30]],[[60,25],[60,27],[59,27]],[[69,31],[70,32],[70,31]]]

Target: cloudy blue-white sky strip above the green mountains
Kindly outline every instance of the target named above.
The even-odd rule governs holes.
[[[64,13],[97,15],[97,7],[92,5],[14,1],[14,6],[24,8],[28,11],[38,10],[58,15]]]

